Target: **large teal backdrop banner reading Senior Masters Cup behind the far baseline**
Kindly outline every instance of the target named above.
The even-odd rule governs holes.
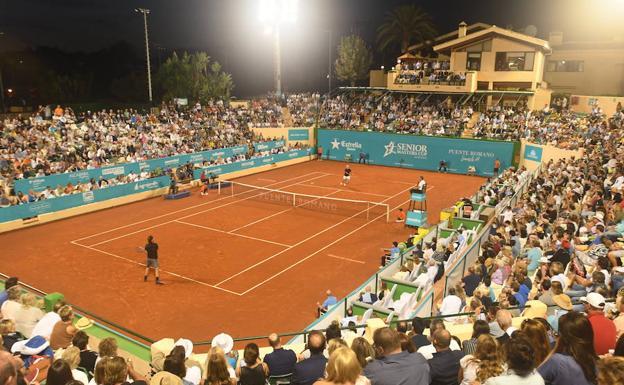
[[[474,167],[482,176],[493,175],[496,159],[501,169],[510,167],[514,151],[513,142],[322,129],[318,145],[323,156],[333,160],[365,159],[370,164],[436,171],[444,161],[450,172],[464,174]]]

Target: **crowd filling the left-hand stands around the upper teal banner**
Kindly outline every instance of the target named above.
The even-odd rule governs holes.
[[[136,110],[102,110],[76,114],[71,108],[41,107],[28,117],[0,123],[0,207],[93,191],[170,173],[154,170],[86,183],[47,186],[44,191],[15,192],[16,179],[89,170],[105,165],[138,162],[198,151],[263,141],[251,127],[281,124],[281,107],[275,99],[258,99],[247,107],[226,106],[221,101],[181,109],[163,104],[158,114]],[[267,138],[268,139],[268,138]],[[282,150],[280,150],[282,151]],[[263,156],[241,154],[216,158],[204,165],[231,163]]]

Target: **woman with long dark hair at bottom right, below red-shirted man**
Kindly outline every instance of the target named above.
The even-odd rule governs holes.
[[[559,319],[559,338],[554,354],[537,371],[553,385],[596,383],[598,356],[594,350],[593,330],[587,317],[577,312]]]

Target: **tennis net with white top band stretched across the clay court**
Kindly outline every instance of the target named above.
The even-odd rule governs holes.
[[[290,206],[297,210],[327,212],[340,216],[362,217],[368,220],[383,219],[386,222],[390,218],[390,206],[386,203],[302,194],[232,181],[219,182],[218,191],[219,194],[237,196],[243,201],[251,200]]]

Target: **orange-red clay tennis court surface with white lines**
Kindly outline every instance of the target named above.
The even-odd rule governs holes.
[[[0,234],[2,271],[153,339],[206,340],[298,331],[331,288],[341,298],[379,268],[380,248],[410,233],[393,223],[424,175],[430,223],[471,196],[483,178],[380,166],[306,162],[238,182],[334,198],[383,202],[390,223],[357,210],[332,212],[245,199],[249,195],[154,198]],[[224,192],[226,192],[224,190]],[[234,190],[236,193],[236,189]],[[381,215],[377,210],[375,214]],[[377,217],[377,219],[375,219]],[[143,282],[148,235],[160,246],[164,286]]]

